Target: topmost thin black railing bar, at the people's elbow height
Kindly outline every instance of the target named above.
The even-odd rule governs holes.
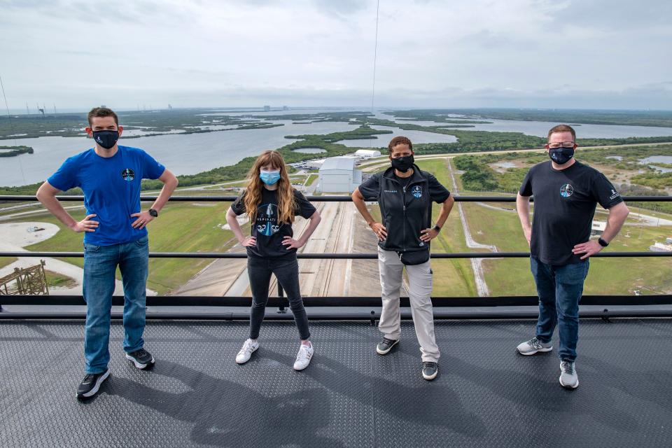
[[[156,196],[141,196],[141,201],[155,201]],[[83,202],[83,196],[57,196],[60,201]],[[237,196],[180,196],[173,195],[172,202],[232,202]],[[307,196],[312,202],[351,202],[350,196]],[[515,196],[454,196],[456,202],[516,202]],[[31,195],[0,195],[0,201],[36,201]],[[532,197],[533,201],[534,198]],[[623,196],[625,202],[671,202],[672,196]]]

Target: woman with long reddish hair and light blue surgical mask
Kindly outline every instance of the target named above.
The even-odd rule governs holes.
[[[244,213],[251,221],[248,237],[243,235],[236,218]],[[294,239],[292,229],[296,215],[310,220],[299,239]],[[292,187],[282,155],[277,151],[262,153],[248,173],[246,190],[226,214],[229,227],[247,249],[247,273],[252,290],[250,337],[238,352],[237,363],[246,363],[259,348],[257,338],[268,301],[271,274],[275,274],[287,295],[301,337],[294,368],[303,370],[308,367],[313,346],[309,341],[308,317],[299,290],[296,251],[306,244],[320,220],[315,207]]]

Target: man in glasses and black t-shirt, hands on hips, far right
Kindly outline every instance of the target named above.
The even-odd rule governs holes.
[[[558,324],[560,384],[576,388],[576,344],[579,337],[579,300],[588,274],[588,258],[616,236],[629,211],[605,176],[575,160],[576,134],[568,125],[548,132],[546,151],[551,160],[533,166],[518,192],[516,206],[530,244],[530,265],[539,295],[536,335],[517,349],[523,355],[551,351]],[[530,225],[530,196],[534,216]],[[599,239],[590,239],[596,204],[609,210]]]

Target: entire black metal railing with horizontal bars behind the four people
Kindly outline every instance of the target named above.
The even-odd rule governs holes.
[[[83,202],[83,196],[63,195],[58,197],[61,201]],[[153,202],[155,196],[142,196],[143,202]],[[171,202],[232,202],[236,196],[181,196],[174,195],[170,198]],[[351,202],[349,196],[308,196],[311,202]],[[510,196],[455,196],[456,202],[515,202],[515,197]],[[627,196],[623,197],[626,202],[672,202],[670,196]],[[533,200],[533,198],[532,198]],[[0,195],[1,201],[12,202],[32,202],[36,197],[29,195]],[[0,257],[61,257],[61,258],[82,258],[83,252],[23,252],[23,251],[5,251],[0,252]],[[529,258],[528,252],[469,252],[469,253],[432,253],[433,259],[455,259],[455,258]],[[601,252],[593,255],[591,258],[642,258],[642,257],[669,257],[672,252]],[[247,258],[245,253],[220,253],[220,252],[151,252],[150,258]],[[376,253],[297,253],[299,259],[336,259],[336,260],[369,260],[377,259]],[[287,301],[283,296],[281,288],[278,291],[279,297],[269,298],[269,307],[279,307],[279,314],[267,316],[267,318],[292,318],[291,315],[283,311],[287,307]],[[78,295],[3,295],[0,298],[1,303],[5,305],[84,305],[82,296]],[[306,307],[379,307],[380,297],[303,297]],[[496,307],[531,307],[538,304],[538,297],[535,296],[504,296],[504,297],[433,297],[432,302],[435,307],[484,307],[486,309],[496,309]],[[251,297],[205,297],[205,296],[151,296],[147,297],[148,307],[249,307]],[[582,305],[606,306],[642,306],[651,305],[670,305],[672,304],[672,295],[648,295],[648,296],[630,296],[630,295],[584,295]],[[113,305],[123,305],[123,297],[113,297]],[[408,307],[408,299],[402,297],[401,306]],[[0,311],[2,308],[0,307]],[[44,313],[44,312],[0,312],[0,318],[83,318],[83,313]],[[311,318],[365,318],[374,321],[379,318],[379,312],[371,310],[368,313],[311,313]],[[536,311],[480,311],[480,312],[461,312],[446,313],[435,311],[436,318],[522,318],[534,317]],[[582,317],[615,317],[615,316],[672,316],[672,310],[665,309],[633,309],[613,311],[602,309],[600,311],[582,312]],[[119,313],[113,313],[113,318],[121,318]],[[153,312],[147,314],[148,318],[196,318],[196,319],[242,319],[248,318],[247,312],[227,311],[223,313],[183,313],[183,312]]]

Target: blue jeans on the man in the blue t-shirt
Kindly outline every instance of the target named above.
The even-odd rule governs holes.
[[[84,244],[86,373],[104,372],[110,361],[110,314],[117,266],[124,284],[124,351],[142,348],[148,262],[147,237],[113,246]]]

